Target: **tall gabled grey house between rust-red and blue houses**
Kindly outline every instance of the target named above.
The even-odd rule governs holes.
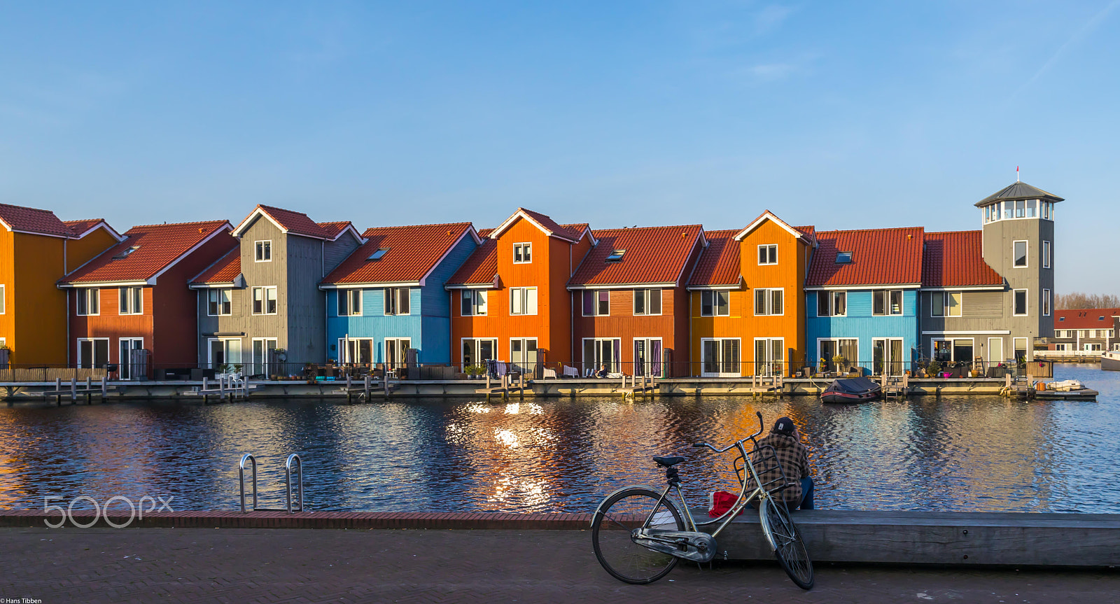
[[[349,222],[317,223],[265,205],[232,234],[240,245],[190,282],[198,291],[199,366],[292,375],[304,363],[326,362],[318,284],[362,236]]]

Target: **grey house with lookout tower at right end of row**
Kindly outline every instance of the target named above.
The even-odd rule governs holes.
[[[1054,204],[1061,201],[1015,183],[976,204],[981,231],[925,234],[924,356],[986,365],[1033,360],[1035,338],[1053,337]]]

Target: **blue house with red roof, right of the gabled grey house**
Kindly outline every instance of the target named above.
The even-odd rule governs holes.
[[[450,297],[444,282],[482,240],[468,222],[383,226],[319,284],[327,292],[327,356],[402,366],[451,362]]]

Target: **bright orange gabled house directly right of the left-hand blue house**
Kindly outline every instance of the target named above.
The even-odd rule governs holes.
[[[525,208],[492,231],[448,279],[451,363],[485,361],[540,375],[573,363],[568,280],[595,245],[587,224],[557,224]],[[558,372],[559,373],[559,372]]]

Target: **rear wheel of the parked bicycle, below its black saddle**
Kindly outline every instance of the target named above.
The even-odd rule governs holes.
[[[640,546],[632,531],[646,524],[651,529],[684,530],[684,520],[673,502],[648,489],[626,489],[604,502],[603,511],[591,522],[591,545],[603,568],[626,583],[653,583],[676,566],[678,558]]]

